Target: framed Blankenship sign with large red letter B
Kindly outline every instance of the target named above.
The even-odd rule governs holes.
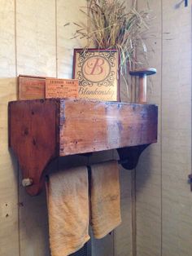
[[[74,49],[73,78],[79,81],[79,98],[119,100],[119,52]]]

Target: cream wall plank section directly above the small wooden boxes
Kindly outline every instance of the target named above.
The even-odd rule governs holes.
[[[55,77],[55,0],[16,0],[18,74]]]

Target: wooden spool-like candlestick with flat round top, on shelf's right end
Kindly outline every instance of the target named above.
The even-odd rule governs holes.
[[[146,104],[146,76],[151,76],[157,73],[155,68],[146,68],[130,71],[131,76],[138,77],[138,99],[137,103]]]

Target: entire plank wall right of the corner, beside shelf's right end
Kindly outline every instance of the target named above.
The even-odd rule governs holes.
[[[155,11],[148,101],[159,105],[159,142],[137,166],[137,256],[190,256],[191,2],[149,1]],[[139,1],[139,8],[145,1]]]

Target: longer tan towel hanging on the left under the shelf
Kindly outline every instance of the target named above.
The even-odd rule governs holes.
[[[89,197],[86,167],[51,174],[46,183],[52,256],[66,256],[89,240]]]

